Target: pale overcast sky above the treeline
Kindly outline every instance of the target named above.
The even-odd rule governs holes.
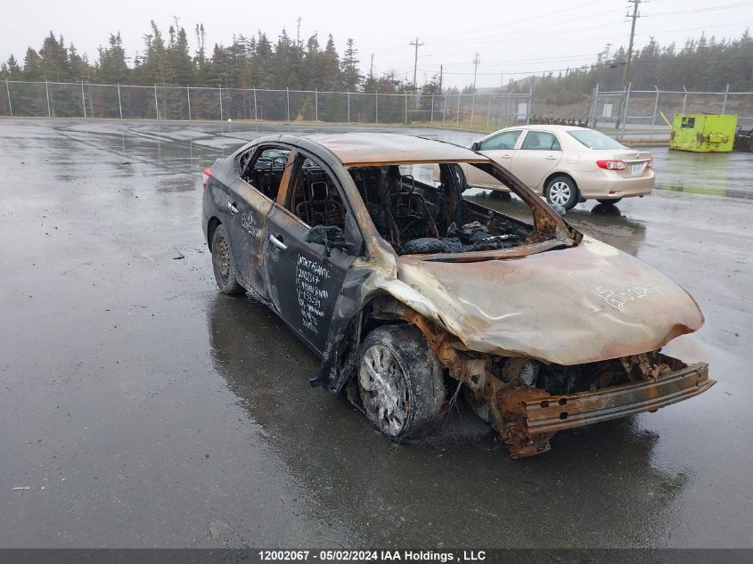
[[[499,86],[502,79],[522,78],[545,70],[566,69],[595,61],[604,45],[627,45],[630,23],[626,0],[536,0],[504,2],[476,0],[430,3],[405,0],[379,2],[246,1],[153,2],[129,0],[36,0],[12,3],[10,17],[0,21],[0,58],[12,53],[20,61],[29,45],[38,49],[43,37],[54,34],[73,42],[90,60],[110,33],[120,32],[129,57],[143,48],[149,20],[155,20],[165,37],[173,16],[180,18],[192,39],[192,29],[203,22],[208,45],[229,44],[233,34],[250,36],[257,30],[274,41],[282,28],[300,37],[319,32],[323,45],[331,33],[342,53],[348,37],[359,51],[361,69],[367,72],[374,54],[376,73],[394,70],[413,79],[413,47],[419,37],[418,82],[444,65],[445,84],[471,84],[473,56],[479,53],[477,86]],[[8,8],[4,10],[8,15]],[[740,37],[753,28],[753,2],[737,0],[651,0],[640,7],[635,42],[638,47],[656,37],[661,45],[686,37]],[[211,50],[209,50],[211,53]]]

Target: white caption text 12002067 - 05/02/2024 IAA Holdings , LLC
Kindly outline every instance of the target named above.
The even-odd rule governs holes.
[[[263,550],[258,552],[260,560],[295,562],[320,560],[331,562],[396,562],[413,564],[423,562],[481,562],[487,560],[485,551],[434,552],[434,551],[306,551],[306,550]]]

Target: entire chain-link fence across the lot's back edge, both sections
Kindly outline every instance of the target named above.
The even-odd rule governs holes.
[[[2,83],[0,83],[2,84]],[[753,127],[753,92],[602,91],[587,102],[552,106],[523,94],[374,94],[208,86],[126,86],[5,80],[0,116],[264,120],[403,124],[494,131],[531,122],[580,123],[618,137],[665,138],[675,113],[734,113]]]

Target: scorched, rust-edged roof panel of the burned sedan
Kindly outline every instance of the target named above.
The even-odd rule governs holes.
[[[330,151],[346,167],[489,160],[454,143],[413,135],[344,133],[302,137]]]

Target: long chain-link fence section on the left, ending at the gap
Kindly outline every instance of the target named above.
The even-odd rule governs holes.
[[[531,116],[531,93],[375,94],[18,80],[5,80],[4,86],[0,116],[8,117],[233,119],[493,130],[528,123]]]

